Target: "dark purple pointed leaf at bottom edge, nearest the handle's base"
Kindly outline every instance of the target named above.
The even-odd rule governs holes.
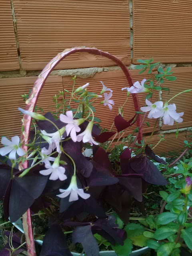
[[[67,242],[62,228],[54,224],[46,232],[40,256],[72,256],[67,248]]]

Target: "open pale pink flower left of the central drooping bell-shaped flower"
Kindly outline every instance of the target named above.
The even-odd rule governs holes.
[[[81,128],[79,127],[80,124],[84,122],[84,118],[80,119],[73,119],[73,112],[72,110],[69,110],[66,112],[66,115],[60,114],[60,120],[61,122],[66,123],[66,133],[67,136],[70,134],[71,139],[76,142],[77,141],[77,135],[76,132],[80,132]]]

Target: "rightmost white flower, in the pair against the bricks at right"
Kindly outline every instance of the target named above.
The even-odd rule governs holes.
[[[154,118],[162,117],[164,124],[173,125],[174,120],[178,123],[181,123],[183,121],[183,118],[181,118],[181,116],[183,115],[184,115],[184,112],[181,112],[181,113],[176,112],[175,104],[168,105],[167,103],[165,103],[162,110],[154,113],[153,117]]]

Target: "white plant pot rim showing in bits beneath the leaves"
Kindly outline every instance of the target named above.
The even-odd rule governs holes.
[[[12,222],[12,224],[18,229],[20,230],[22,233],[24,233],[23,230],[23,224],[22,224],[22,220],[19,219],[16,222]],[[35,240],[36,243],[42,245],[43,241],[42,240]],[[140,248],[138,250],[134,250],[132,251],[132,253],[130,254],[130,256],[141,256],[143,252],[146,252],[147,250],[149,250],[148,246],[145,246],[143,248]],[[79,256],[80,253],[77,252],[71,252],[73,256]],[[115,253],[115,251],[111,250],[111,251],[100,251],[99,252],[100,255],[102,256],[116,256],[117,254]],[[84,254],[83,254],[84,255]]]

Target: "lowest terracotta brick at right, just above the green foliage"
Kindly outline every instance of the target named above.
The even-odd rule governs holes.
[[[145,141],[148,140],[148,136],[145,137]],[[184,140],[186,140],[186,131],[179,132],[178,138],[176,138],[175,133],[164,134],[164,139],[166,141],[161,141],[154,152],[159,156],[179,156],[185,149]],[[150,142],[151,148],[159,142],[160,138],[158,135],[154,135]]]

